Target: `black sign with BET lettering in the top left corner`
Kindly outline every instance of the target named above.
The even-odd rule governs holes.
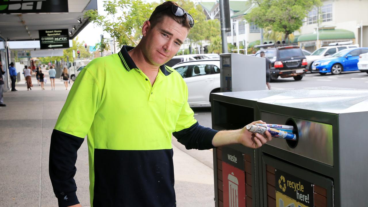
[[[0,0],[0,13],[61,13],[69,12],[66,0]]]

